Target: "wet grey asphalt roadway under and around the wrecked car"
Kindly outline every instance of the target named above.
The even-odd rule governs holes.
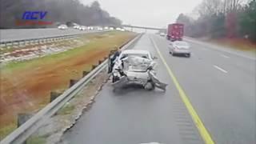
[[[134,49],[150,50],[158,57],[158,78],[169,84],[166,92],[136,87],[113,92],[107,82],[91,109],[64,135],[64,142],[204,143],[150,38],[214,142],[254,144],[255,60],[196,42],[189,42],[191,58],[173,57],[169,42],[154,34],[144,34]]]

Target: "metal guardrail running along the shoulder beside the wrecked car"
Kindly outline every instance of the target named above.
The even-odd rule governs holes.
[[[126,42],[123,46],[121,46],[121,50],[132,46],[138,39],[142,36],[142,34],[138,35],[136,38],[130,40],[130,42]],[[90,71],[89,74],[86,74],[85,77],[80,79],[74,86],[71,86],[70,89],[66,90],[63,94],[58,96],[58,98],[54,99],[53,102],[50,102],[47,106],[45,106],[42,110],[38,111],[32,118],[26,121],[22,126],[19,126],[16,130],[14,130],[11,134],[7,135],[0,144],[16,144],[22,143],[26,141],[26,138],[29,138],[31,134],[33,134],[44,122],[47,121],[52,115],[54,115],[62,106],[66,104],[66,102],[70,101],[90,80],[92,80],[98,73],[104,70],[107,66],[106,59],[102,64],[97,66],[94,70]]]

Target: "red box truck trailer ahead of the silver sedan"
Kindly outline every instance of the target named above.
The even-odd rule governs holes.
[[[174,41],[182,41],[184,31],[184,25],[181,23],[173,23],[168,25],[166,38],[168,40]]]

